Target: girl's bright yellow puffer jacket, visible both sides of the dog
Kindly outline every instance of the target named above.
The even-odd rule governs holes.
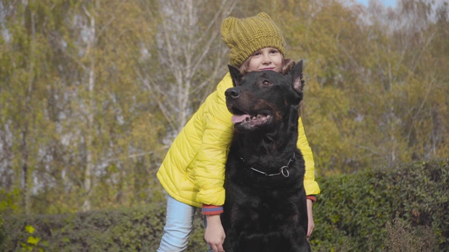
[[[187,125],[177,135],[163,160],[157,177],[163,188],[180,202],[194,207],[225,203],[225,164],[232,140],[233,124],[225,91],[232,87],[229,73],[217,85]],[[315,181],[314,158],[299,120],[297,146],[304,155],[307,195],[320,193]]]

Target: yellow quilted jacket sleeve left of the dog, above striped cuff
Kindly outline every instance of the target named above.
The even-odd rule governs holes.
[[[203,104],[204,132],[196,156],[195,184],[199,188],[196,202],[206,205],[222,206],[225,203],[225,165],[234,132],[232,115],[225,101],[228,87],[232,87],[229,73],[217,85],[215,95]]]

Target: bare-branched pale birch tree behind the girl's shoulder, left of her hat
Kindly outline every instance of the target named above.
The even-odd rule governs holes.
[[[159,71],[137,71],[173,137],[226,72],[227,48],[220,39],[220,25],[236,1],[168,0],[159,5],[158,55],[152,62],[158,61]]]

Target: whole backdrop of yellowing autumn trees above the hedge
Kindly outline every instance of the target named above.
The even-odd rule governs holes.
[[[1,1],[0,211],[162,200],[167,148],[227,71],[221,20],[260,11],[304,59],[318,176],[447,158],[449,6],[436,2]]]

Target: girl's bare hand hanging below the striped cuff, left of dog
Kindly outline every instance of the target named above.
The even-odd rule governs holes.
[[[204,234],[206,243],[213,249],[213,252],[224,252],[223,242],[225,242],[226,235],[220,215],[206,216],[206,220],[208,222]]]

